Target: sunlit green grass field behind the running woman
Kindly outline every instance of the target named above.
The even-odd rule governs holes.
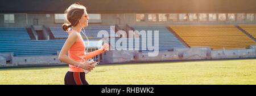
[[[0,69],[0,84],[64,84],[68,67]],[[86,75],[89,84],[256,84],[256,59],[109,64]]]

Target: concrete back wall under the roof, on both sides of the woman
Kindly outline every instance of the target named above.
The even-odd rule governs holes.
[[[163,13],[169,14],[169,13]],[[55,23],[54,14],[15,14],[15,23],[4,23],[4,15],[0,14],[0,27],[29,27],[33,25],[33,19],[38,19],[38,25],[46,27],[61,27],[63,23]],[[168,25],[187,25],[187,24],[256,24],[256,14],[254,21],[166,21],[166,22],[144,22],[136,21],[136,14],[101,14],[101,23],[89,23],[89,25],[115,25],[129,24],[131,26],[168,26]]]

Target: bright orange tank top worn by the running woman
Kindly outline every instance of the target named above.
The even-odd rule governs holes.
[[[71,32],[69,31],[68,34],[71,34]],[[85,44],[84,44],[84,40],[82,39],[81,34],[79,34],[79,38],[77,39],[77,41],[75,43],[73,43],[71,48],[68,50],[68,57],[77,62],[81,62],[81,63],[84,63],[86,61],[85,60]],[[69,64],[68,71],[84,72],[84,71],[82,71],[82,68],[79,68],[79,67],[77,68],[71,64]]]

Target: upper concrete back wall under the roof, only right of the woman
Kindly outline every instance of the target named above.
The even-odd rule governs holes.
[[[168,13],[163,13],[168,14]],[[166,22],[144,22],[136,21],[136,14],[101,14],[101,25],[129,24],[131,26],[168,26],[168,25],[191,25],[191,24],[256,24],[256,14],[254,21],[166,21]]]

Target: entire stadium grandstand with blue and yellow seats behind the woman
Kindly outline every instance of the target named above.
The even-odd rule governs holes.
[[[97,50],[97,43],[106,39],[110,39],[110,47],[134,40],[121,46],[133,46],[133,50],[110,50],[95,56],[93,59],[100,63],[256,57],[256,1],[129,0],[116,5],[117,1],[1,1],[0,65],[63,64],[57,56],[68,33],[61,25],[65,8],[74,2],[88,10],[85,34],[89,43],[81,33],[88,52]],[[101,30],[109,36],[98,36]],[[130,37],[129,30],[136,38]],[[158,50],[148,47],[150,42],[142,41],[143,36],[136,30],[144,30],[147,37],[152,32],[152,46],[158,43]],[[135,45],[139,45],[138,50]],[[158,52],[156,56],[146,55],[154,51]]]

